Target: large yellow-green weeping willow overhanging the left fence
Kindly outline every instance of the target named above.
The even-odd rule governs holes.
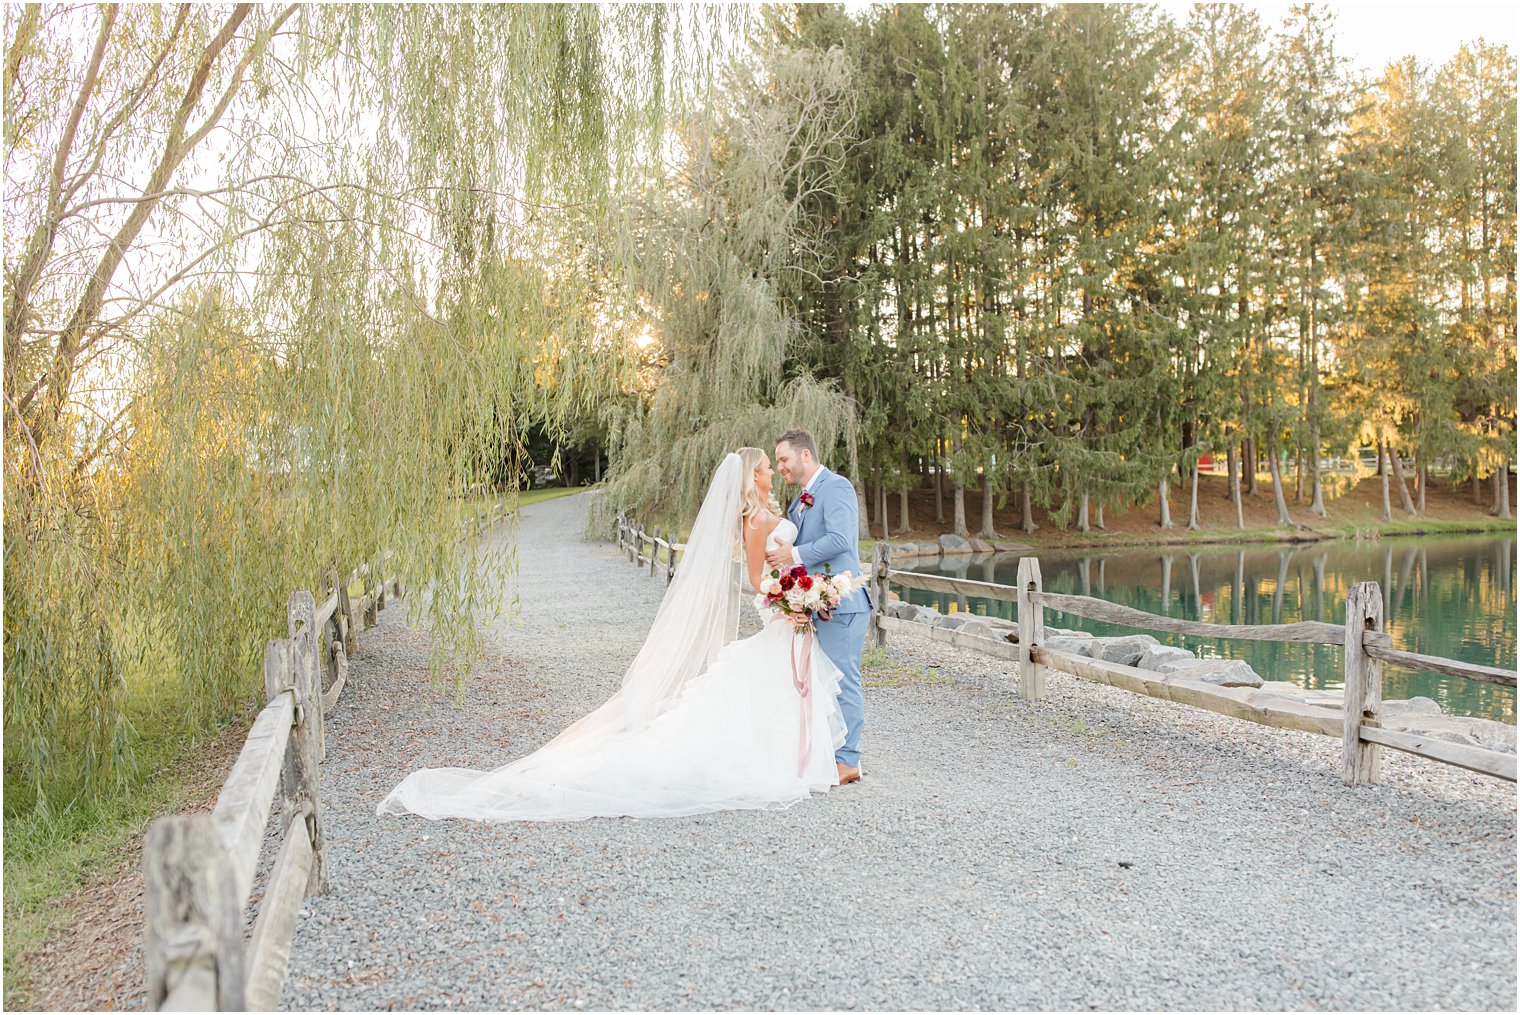
[[[465,565],[467,495],[626,380],[556,237],[716,17],[6,8],[8,819],[257,704],[334,564],[389,552],[468,659],[509,559]]]

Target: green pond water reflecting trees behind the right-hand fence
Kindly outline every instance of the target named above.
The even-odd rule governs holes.
[[[1167,617],[1221,624],[1345,623],[1356,582],[1383,588],[1385,629],[1394,647],[1467,662],[1515,669],[1515,538],[1414,536],[1295,545],[1148,547],[1046,550],[1038,555],[1047,593],[1094,596]],[[1018,555],[947,556],[904,562],[906,570],[1017,582]],[[894,588],[907,602],[941,612],[968,609],[1015,618],[1014,603]],[[1097,635],[1131,628],[1046,611],[1046,624]],[[1245,659],[1269,681],[1307,688],[1342,682],[1338,646],[1227,641],[1154,634],[1202,658]],[[1515,722],[1515,691],[1439,673],[1383,669],[1385,697],[1432,697],[1453,716]]]

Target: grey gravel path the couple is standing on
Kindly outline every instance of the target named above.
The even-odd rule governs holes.
[[[523,609],[462,708],[401,609],[362,637],[286,1007],[1515,1007],[1509,784],[1386,752],[1351,790],[1339,741],[1059,673],[1026,705],[927,640],[866,673],[866,778],[787,811],[377,817],[413,767],[521,757],[616,688],[664,583],[579,541],[585,500],[492,533]]]

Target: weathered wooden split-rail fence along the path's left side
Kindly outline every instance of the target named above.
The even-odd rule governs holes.
[[[477,508],[465,535],[508,514],[506,501]],[[382,558],[382,567],[385,561]],[[289,637],[264,650],[268,704],[210,814],[170,814],[143,842],[143,959],[147,1003],[164,1012],[275,1010],[284,986],[301,903],[327,889],[327,843],[318,764],[327,754],[322,717],[348,684],[359,634],[401,596],[395,576],[360,567],[327,574],[327,597],[292,593]],[[362,582],[356,600],[350,588]],[[254,890],[264,831],[278,816],[278,845],[245,944],[243,913]]]

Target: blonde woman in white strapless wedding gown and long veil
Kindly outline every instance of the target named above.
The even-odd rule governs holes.
[[[736,641],[737,570],[751,590],[765,555],[796,539],[771,494],[771,457],[724,457],[675,580],[623,684],[543,748],[489,772],[423,769],[380,814],[471,821],[675,817],[781,808],[839,784],[839,670],[816,638],[812,687],[793,684],[793,631],[780,615]],[[807,673],[798,659],[796,672]]]

